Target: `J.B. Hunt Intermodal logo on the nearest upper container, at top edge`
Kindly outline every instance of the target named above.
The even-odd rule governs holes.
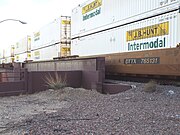
[[[101,13],[102,0],[95,0],[82,8],[83,21]],[[96,10],[95,10],[96,9]]]

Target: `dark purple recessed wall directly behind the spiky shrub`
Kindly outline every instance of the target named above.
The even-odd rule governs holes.
[[[28,93],[35,93],[48,89],[47,79],[50,76],[55,78],[55,74],[66,80],[67,86],[81,87],[81,71],[32,71],[28,72]]]

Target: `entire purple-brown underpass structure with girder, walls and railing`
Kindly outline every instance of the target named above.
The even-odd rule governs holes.
[[[131,88],[105,82],[105,58],[102,57],[24,63],[22,66],[25,68],[21,68],[21,64],[14,65],[11,82],[0,83],[0,96],[47,90],[46,77],[51,75],[55,78],[55,74],[66,78],[69,87],[96,89],[100,93],[114,94]],[[2,80],[2,73],[0,76]]]

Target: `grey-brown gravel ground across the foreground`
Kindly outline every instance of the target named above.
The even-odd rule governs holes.
[[[0,134],[180,135],[180,87],[129,84],[116,95],[65,88],[1,98]]]

